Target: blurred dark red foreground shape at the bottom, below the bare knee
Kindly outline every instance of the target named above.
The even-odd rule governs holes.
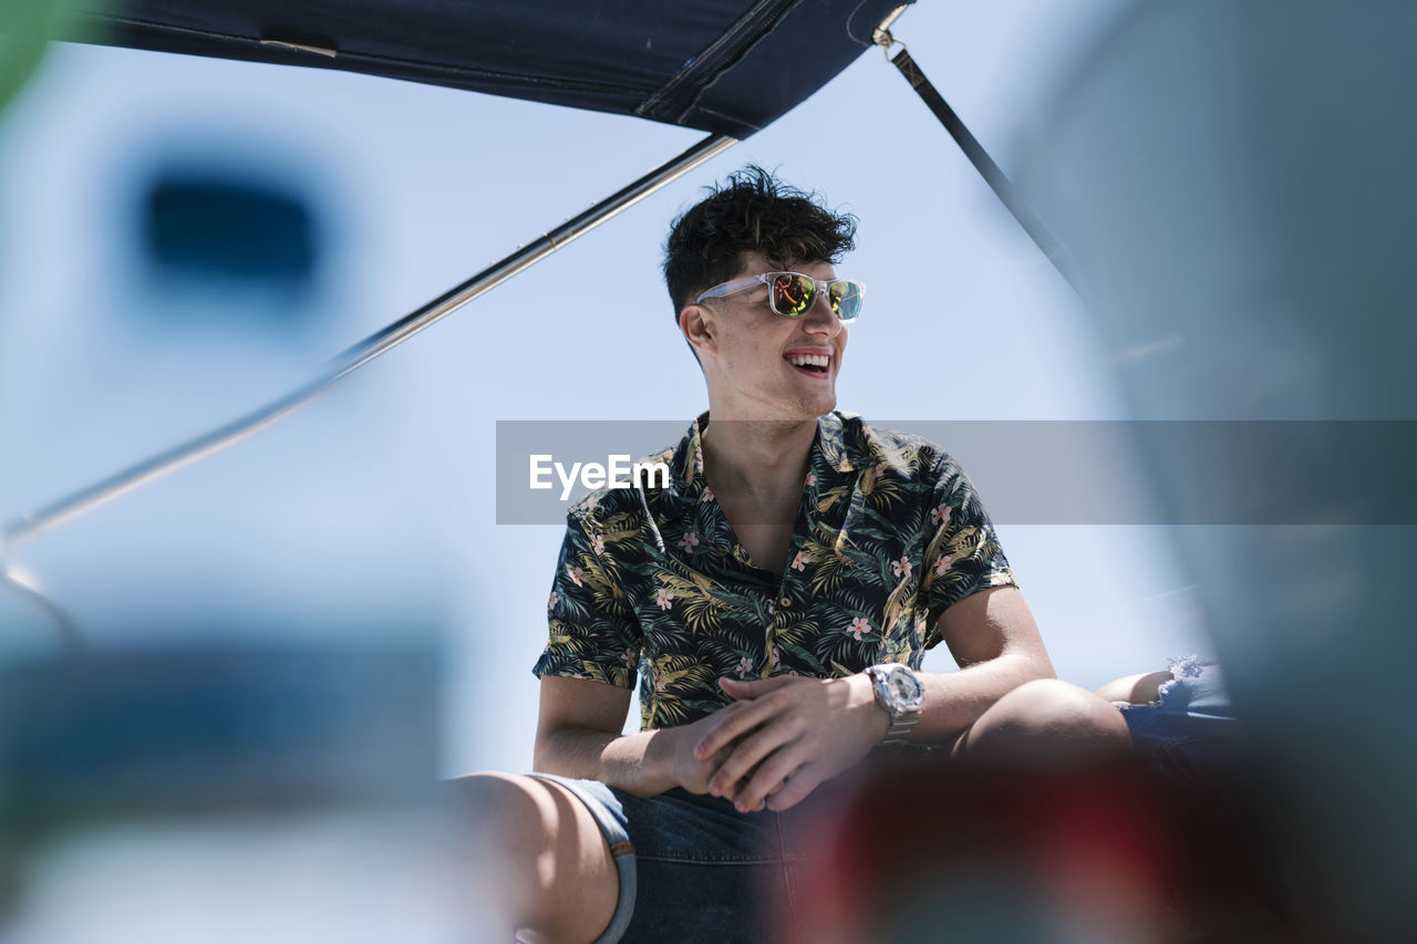
[[[818,831],[786,940],[1294,940],[1301,906],[1265,788],[1212,757],[1203,790],[1141,758],[877,767]]]

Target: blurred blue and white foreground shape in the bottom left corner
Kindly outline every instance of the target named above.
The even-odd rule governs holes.
[[[476,940],[427,639],[130,649],[0,678],[0,937]]]

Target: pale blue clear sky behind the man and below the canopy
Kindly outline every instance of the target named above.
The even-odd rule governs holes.
[[[1114,0],[922,3],[897,35],[1010,173]],[[0,123],[0,515],[230,420],[700,135],[316,69],[60,47]],[[327,223],[310,325],[160,330],[130,193],[163,159],[299,181]],[[706,405],[657,265],[670,218],[744,163],[860,220],[870,285],[840,407],[867,420],[1125,418],[1071,289],[871,51],[686,180],[377,361],[282,428],[17,549],[99,642],[153,600],[324,626],[432,612],[453,634],[448,772],[527,768],[560,532],[497,527],[497,420],[676,420]],[[947,448],[949,444],[944,444]],[[976,481],[985,502],[989,482]],[[1163,529],[1000,527],[1061,678],[1210,651]],[[273,602],[272,602],[273,601]],[[174,604],[176,605],[176,604]],[[380,618],[370,618],[376,614]],[[346,619],[346,615],[349,619]],[[0,621],[27,618],[0,601]],[[11,653],[43,636],[11,634]],[[337,628],[327,629],[337,632]],[[354,632],[354,629],[350,629]],[[928,669],[952,668],[938,651]],[[633,713],[632,713],[633,717]]]

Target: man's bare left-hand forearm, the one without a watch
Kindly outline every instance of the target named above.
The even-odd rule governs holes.
[[[677,784],[667,764],[666,741],[673,729],[611,734],[563,727],[537,738],[538,772],[598,780],[636,797],[653,797]]]

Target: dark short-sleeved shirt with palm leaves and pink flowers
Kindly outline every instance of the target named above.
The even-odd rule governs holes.
[[[704,482],[700,417],[667,488],[599,489],[567,515],[550,639],[533,672],[629,689],[642,729],[731,699],[720,676],[847,676],[920,668],[939,614],[1013,575],[959,465],[852,414],[818,420],[785,573],[755,567]]]

